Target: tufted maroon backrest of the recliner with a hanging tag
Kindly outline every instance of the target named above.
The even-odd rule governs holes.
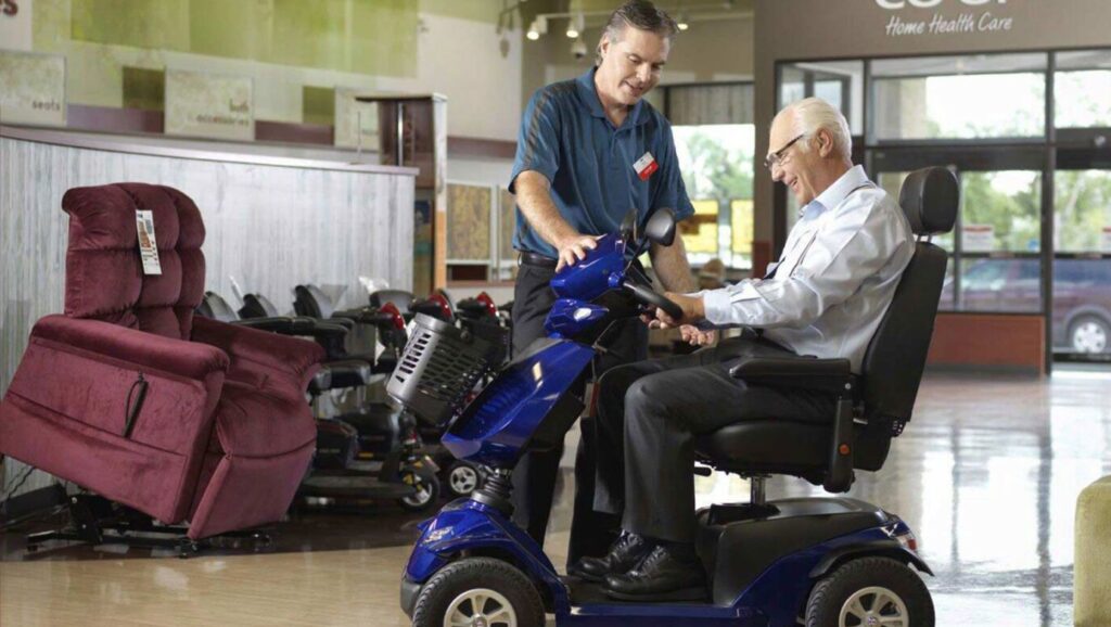
[[[146,183],[66,192],[66,315],[189,339],[204,293],[204,223],[180,191]],[[153,216],[160,275],[143,273],[136,212]]]

